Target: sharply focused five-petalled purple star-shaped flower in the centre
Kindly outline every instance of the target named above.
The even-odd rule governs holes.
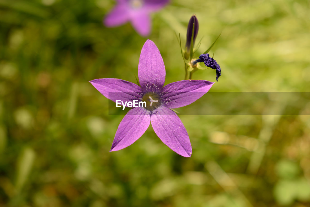
[[[171,150],[190,157],[192,146],[180,118],[170,108],[193,103],[208,92],[214,84],[205,80],[184,80],[164,86],[166,71],[162,56],[151,41],[147,40],[141,50],[138,85],[114,78],[95,79],[91,84],[106,98],[116,102],[139,99],[147,102],[145,108],[132,108],[119,124],[111,151],[121,150],[139,139],[149,124],[157,136]]]

